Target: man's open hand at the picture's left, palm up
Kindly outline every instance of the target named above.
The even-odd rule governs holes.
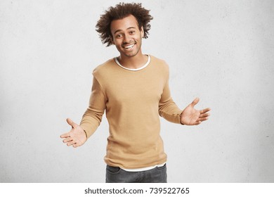
[[[67,146],[73,146],[74,148],[83,145],[86,142],[86,132],[75,122],[67,118],[67,124],[72,126],[70,132],[62,134],[60,138],[64,138],[63,142],[67,143]]]

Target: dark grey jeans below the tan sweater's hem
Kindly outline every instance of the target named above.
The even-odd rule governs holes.
[[[120,167],[107,165],[106,183],[167,183],[167,166],[141,172],[127,172]]]

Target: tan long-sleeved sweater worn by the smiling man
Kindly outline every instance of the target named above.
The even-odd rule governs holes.
[[[159,115],[179,124],[181,110],[170,95],[168,65],[150,58],[148,66],[138,71],[126,70],[114,59],[93,70],[89,108],[80,126],[91,136],[106,112],[108,165],[132,169],[167,161]]]

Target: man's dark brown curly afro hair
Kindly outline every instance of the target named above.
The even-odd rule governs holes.
[[[112,20],[119,20],[126,16],[133,15],[138,21],[138,27],[143,27],[144,38],[148,38],[148,30],[150,30],[150,20],[153,17],[149,14],[149,10],[142,7],[141,4],[117,4],[115,7],[108,8],[105,14],[100,16],[96,24],[96,31],[100,34],[100,39],[107,46],[112,45],[112,34],[110,32],[110,24]]]

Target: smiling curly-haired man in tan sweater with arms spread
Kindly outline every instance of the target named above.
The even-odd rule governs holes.
[[[120,56],[93,70],[89,108],[80,125],[67,119],[72,129],[61,135],[67,146],[83,145],[106,112],[106,182],[167,182],[159,115],[181,125],[199,125],[209,117],[209,108],[195,110],[199,98],[180,110],[170,95],[168,65],[142,53],[150,20],[141,4],[117,4],[101,16],[96,27],[102,42],[114,44]]]

